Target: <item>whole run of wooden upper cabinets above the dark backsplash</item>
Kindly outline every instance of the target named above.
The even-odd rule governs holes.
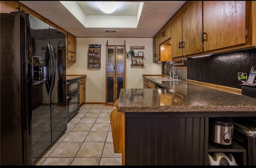
[[[186,1],[167,25],[172,59],[255,48],[256,1]]]

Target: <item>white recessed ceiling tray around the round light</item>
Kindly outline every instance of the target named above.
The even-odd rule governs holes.
[[[100,10],[97,2],[60,1],[86,28],[137,28],[143,2],[118,2],[111,14]]]

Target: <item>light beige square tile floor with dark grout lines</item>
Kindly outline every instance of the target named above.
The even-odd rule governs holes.
[[[110,113],[112,106],[83,104],[67,130],[36,160],[42,166],[121,166],[114,153]]]

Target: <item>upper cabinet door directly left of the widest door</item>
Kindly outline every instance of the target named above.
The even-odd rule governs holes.
[[[182,6],[183,56],[203,52],[202,32],[202,1],[187,1]]]

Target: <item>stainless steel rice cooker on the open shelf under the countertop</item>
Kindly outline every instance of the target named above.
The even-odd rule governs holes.
[[[209,118],[209,140],[221,145],[231,145],[234,121],[230,117]]]

